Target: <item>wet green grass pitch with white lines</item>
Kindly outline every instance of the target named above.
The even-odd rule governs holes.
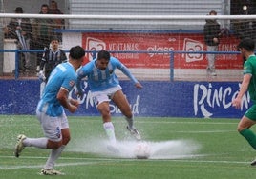
[[[113,118],[117,139],[127,140],[126,123],[122,117]],[[72,140],[62,153],[56,169],[66,175],[55,178],[251,178],[256,177],[250,161],[256,156],[245,139],[237,132],[237,119],[195,118],[136,118],[136,126],[145,141],[190,141],[200,146],[192,157],[138,160],[91,152],[92,139],[106,139],[99,117],[69,117]],[[252,128],[253,129],[253,128]],[[254,129],[256,131],[256,129]],[[0,116],[0,178],[34,179],[39,175],[49,150],[26,148],[19,158],[12,156],[16,136],[43,136],[34,116]],[[190,149],[191,143],[185,143]],[[127,146],[129,148],[129,146]],[[181,149],[182,150],[182,149]],[[164,153],[162,153],[164,155]],[[180,153],[181,154],[181,153]],[[186,154],[186,153],[184,153]],[[191,153],[190,153],[191,154]],[[168,152],[170,155],[170,152]]]

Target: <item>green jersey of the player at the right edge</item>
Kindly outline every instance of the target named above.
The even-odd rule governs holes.
[[[244,64],[244,75],[250,74],[251,79],[248,86],[250,99],[256,102],[256,56],[250,55]]]

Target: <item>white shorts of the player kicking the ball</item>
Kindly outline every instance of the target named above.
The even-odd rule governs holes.
[[[96,91],[92,92],[93,100],[96,106],[98,106],[100,103],[105,101],[111,101],[113,95],[118,91],[121,90],[121,86],[117,85],[117,87],[113,87],[110,89],[102,90],[102,91]]]

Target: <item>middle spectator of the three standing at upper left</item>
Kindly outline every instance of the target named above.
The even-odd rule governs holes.
[[[47,4],[41,6],[39,14],[49,14]],[[53,20],[52,19],[35,19],[33,22],[33,42],[36,50],[49,48],[53,36]],[[39,71],[42,53],[37,53],[36,71]]]

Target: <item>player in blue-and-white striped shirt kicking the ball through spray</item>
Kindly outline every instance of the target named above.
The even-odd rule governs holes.
[[[116,144],[114,125],[111,122],[109,102],[112,100],[125,116],[128,126],[127,129],[136,139],[140,140],[139,131],[134,127],[134,116],[129,103],[122,92],[115,70],[121,70],[134,83],[135,87],[141,89],[139,81],[131,72],[115,57],[111,57],[106,50],[98,52],[95,60],[87,63],[78,70],[77,90],[78,95],[82,96],[80,82],[82,78],[87,77],[88,85],[92,91],[92,96],[96,108],[101,113],[103,128],[106,131],[112,145]]]

